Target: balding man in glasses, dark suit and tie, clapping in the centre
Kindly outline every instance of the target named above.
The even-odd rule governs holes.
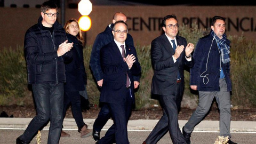
[[[100,102],[109,108],[114,124],[96,143],[129,143],[127,123],[135,102],[133,75],[139,75],[141,67],[135,47],[125,44],[127,33],[127,24],[116,21],[112,31],[114,41],[100,50],[104,79]]]

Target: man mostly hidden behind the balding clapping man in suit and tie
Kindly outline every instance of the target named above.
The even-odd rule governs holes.
[[[113,41],[114,37],[112,34],[112,28],[114,26],[114,23],[119,20],[126,22],[127,21],[126,15],[122,12],[116,12],[113,15],[113,20],[112,20],[113,23],[108,25],[104,31],[102,31],[100,34],[97,35],[92,46],[90,67],[92,69],[93,76],[97,81],[97,84],[99,87],[101,87],[103,83],[103,72],[100,66],[100,49],[103,46]],[[125,43],[127,45],[134,46],[133,38],[129,33],[127,33],[126,35]],[[134,89],[137,89],[140,84],[139,83],[140,76],[133,76],[133,78],[134,78]],[[95,142],[100,139],[101,129],[108,122],[108,119],[111,117],[109,109],[105,105],[105,103],[100,102],[100,107],[101,109],[100,109],[99,115],[95,119],[95,122],[93,124],[92,138]]]

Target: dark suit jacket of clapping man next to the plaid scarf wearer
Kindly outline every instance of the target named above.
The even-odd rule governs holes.
[[[176,36],[177,46],[187,46],[187,41],[181,36]],[[172,55],[174,50],[165,34],[155,38],[151,42],[151,60],[154,68],[151,91],[157,95],[171,95],[176,89],[178,71],[181,76],[181,91],[184,87],[184,67],[193,67],[194,60],[187,61],[185,49],[180,54],[178,61],[174,63]]]

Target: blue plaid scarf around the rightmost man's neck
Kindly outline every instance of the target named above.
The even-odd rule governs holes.
[[[229,58],[230,47],[226,44],[226,39],[227,39],[226,34],[223,34],[221,39],[217,35],[214,34],[213,30],[212,30],[211,34],[216,39],[217,43],[220,46],[221,61],[223,63],[230,62],[230,58]]]

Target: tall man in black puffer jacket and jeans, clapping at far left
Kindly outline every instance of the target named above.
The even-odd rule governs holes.
[[[59,143],[62,129],[63,83],[66,82],[64,61],[72,60],[66,32],[56,22],[58,7],[53,1],[41,5],[38,23],[25,35],[25,57],[28,84],[32,85],[37,115],[16,143],[30,143],[38,130],[51,122],[48,144]]]

